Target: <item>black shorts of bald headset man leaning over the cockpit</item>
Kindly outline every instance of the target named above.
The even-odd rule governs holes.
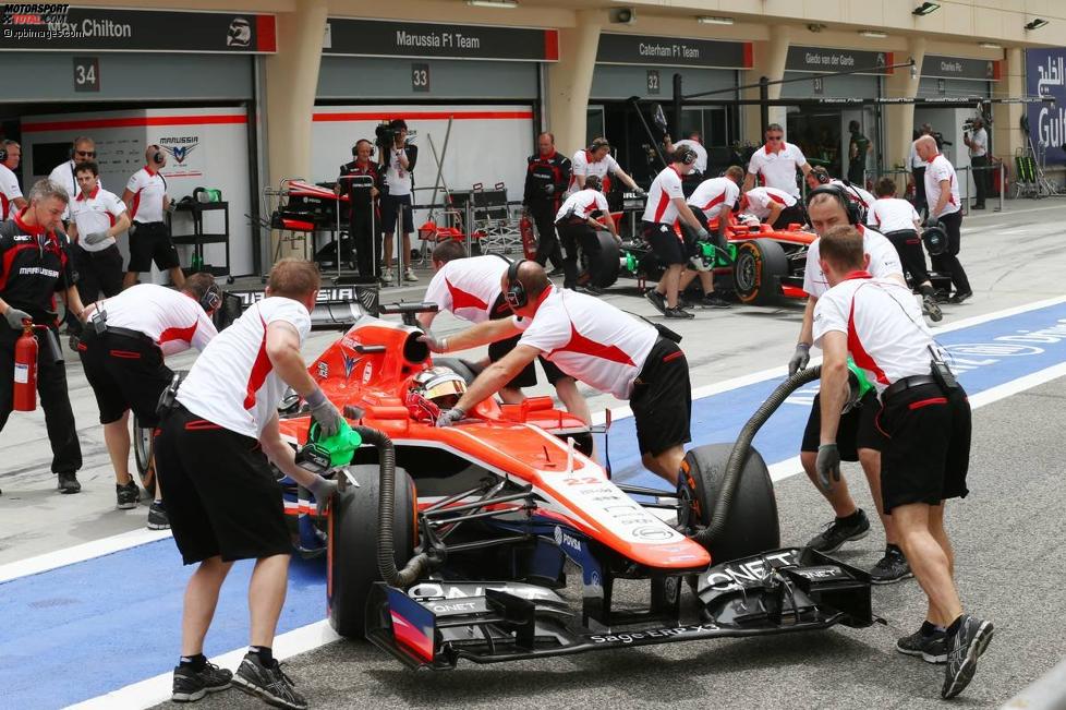
[[[633,383],[629,408],[637,423],[641,456],[658,456],[692,441],[692,385],[689,362],[673,340],[659,338]]]

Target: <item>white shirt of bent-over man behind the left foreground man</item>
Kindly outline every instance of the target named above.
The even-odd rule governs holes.
[[[203,352],[218,335],[215,324],[192,297],[155,284],[131,286],[99,301],[97,309],[107,313],[109,326],[145,334],[167,356],[189,348]]]

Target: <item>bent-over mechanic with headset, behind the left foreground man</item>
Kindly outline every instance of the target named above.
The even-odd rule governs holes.
[[[75,218],[77,209],[74,209]],[[77,354],[93,387],[114,467],[116,507],[137,507],[141,491],[130,476],[130,410],[142,426],[158,426],[156,405],[174,377],[166,356],[204,348],[218,335],[210,314],[221,292],[210,274],[193,274],[181,291],[155,284],[131,286],[114,298],[93,304],[89,326],[82,333]],[[93,306],[90,306],[93,308]],[[148,528],[170,527],[156,481],[148,508]]]

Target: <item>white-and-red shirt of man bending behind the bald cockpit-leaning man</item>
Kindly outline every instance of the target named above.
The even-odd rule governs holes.
[[[440,311],[448,311],[463,321],[484,323],[489,320],[499,298],[500,279],[509,266],[499,256],[492,255],[452,260],[433,275],[422,300],[436,303]]]

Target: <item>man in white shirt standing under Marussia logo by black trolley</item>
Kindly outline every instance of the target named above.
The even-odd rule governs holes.
[[[156,267],[170,272],[170,281],[181,289],[185,274],[178,261],[178,250],[170,238],[170,229],[163,215],[173,212],[173,202],[167,195],[167,179],[159,173],[167,167],[167,153],[158,145],[149,145],[144,152],[145,166],[130,176],[122,193],[122,202],[130,210],[133,226],[130,230],[130,264],[126,266],[122,287],[137,282],[142,272]]]

